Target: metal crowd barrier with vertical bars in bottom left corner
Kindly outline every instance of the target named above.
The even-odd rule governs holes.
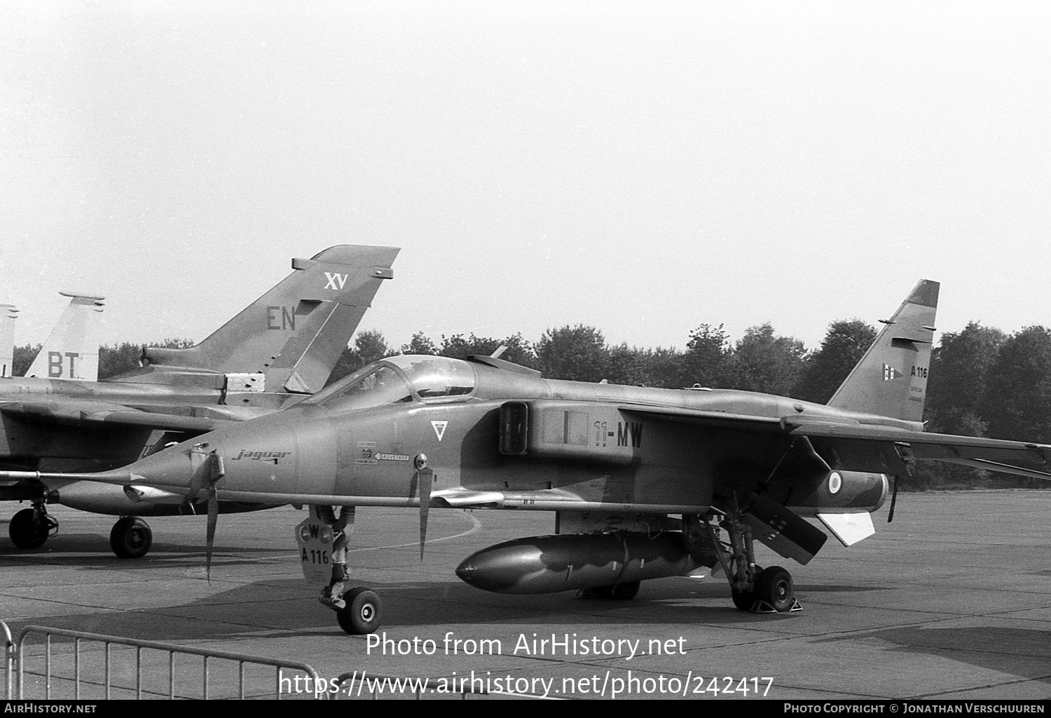
[[[46,628],[42,626],[26,626],[23,628],[17,639],[12,638],[11,629],[6,624],[0,621],[0,627],[3,628],[4,640],[5,640],[5,654],[6,654],[6,688],[7,688],[7,699],[8,700],[25,700],[33,698],[35,696],[26,695],[25,691],[25,677],[26,675],[36,676],[44,682],[44,695],[36,696],[42,697],[45,700],[50,700],[56,696],[53,696],[53,683],[73,683],[74,699],[95,699],[95,698],[136,698],[142,699],[144,694],[147,697],[167,697],[167,698],[213,698],[213,697],[228,697],[228,698],[246,698],[245,691],[245,669],[246,667],[262,667],[262,668],[273,668],[273,691],[269,690],[260,691],[259,693],[253,693],[250,697],[268,697],[268,698],[282,698],[282,696],[295,697],[296,693],[300,693],[300,697],[315,697],[312,693],[306,692],[293,692],[292,683],[293,679],[296,685],[298,681],[303,678],[303,674],[306,678],[313,681],[314,685],[321,684],[321,677],[317,672],[307,663],[301,663],[298,661],[292,660],[282,660],[275,658],[261,658],[256,656],[248,656],[238,653],[227,653],[224,651],[210,651],[207,649],[197,649],[185,646],[176,646],[172,643],[160,643],[151,640],[138,640],[135,638],[120,638],[117,636],[107,636],[98,633],[85,633],[83,631],[69,631],[65,629],[55,629]],[[33,635],[43,635],[43,653],[35,653],[33,655],[27,654],[27,639]],[[62,638],[63,641],[54,641],[54,638]],[[69,641],[71,640],[71,656],[68,651]],[[99,666],[100,656],[99,651],[87,651],[88,647],[94,647],[95,649],[100,648],[101,645],[101,662]],[[130,678],[130,666],[128,666],[128,660],[115,661],[114,660],[114,647],[120,647],[119,653],[130,653],[131,650],[135,651],[135,662],[133,662],[133,688],[129,684]],[[82,650],[83,649],[83,650]],[[144,688],[143,671],[146,666],[144,666],[144,652],[161,652],[167,657],[167,688],[166,690],[158,688]],[[201,659],[200,661],[200,679],[197,681],[190,680],[187,676],[192,675],[192,673],[187,673],[187,667],[181,666],[181,674],[177,674],[176,668],[176,656],[194,656]],[[121,656],[122,658],[129,658],[128,656]],[[66,673],[59,673],[62,669],[68,670],[69,662],[71,658],[71,669],[73,675],[69,676]],[[147,654],[146,658],[156,658],[156,654]],[[228,661],[226,663],[217,663],[217,661]],[[33,670],[34,666],[42,662],[43,666],[37,670]],[[185,661],[184,661],[185,662]],[[27,666],[33,663],[34,666]],[[214,695],[212,691],[213,673],[217,672],[221,667],[232,668],[236,667],[236,695],[229,694],[228,689],[220,689],[223,695]],[[101,668],[101,676],[100,674]],[[157,669],[156,660],[150,661],[149,668]],[[286,669],[293,672],[291,676],[285,676],[282,670]],[[89,674],[85,677],[84,674]],[[161,671],[162,675],[164,673],[163,669]],[[266,671],[269,673],[269,671]],[[17,675],[17,685],[15,683],[15,676]],[[178,676],[178,678],[177,678]],[[296,677],[298,676],[298,677]],[[153,676],[156,679],[156,676]],[[232,676],[228,677],[225,681],[226,683],[232,682]],[[156,682],[156,680],[153,681]],[[180,685],[180,690],[177,690],[177,684],[182,683],[197,683],[200,685],[200,695],[186,695],[187,690]],[[283,688],[287,684],[288,690],[283,691]],[[87,692],[87,687],[91,687],[96,692],[102,690],[104,695],[85,695]],[[16,690],[17,689],[17,690]],[[118,695],[115,695],[118,694]],[[133,694],[133,695],[132,695]]]

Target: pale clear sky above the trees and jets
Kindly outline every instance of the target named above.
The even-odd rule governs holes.
[[[200,340],[339,244],[363,330],[683,349],[1051,325],[1051,3],[0,1],[19,344]]]

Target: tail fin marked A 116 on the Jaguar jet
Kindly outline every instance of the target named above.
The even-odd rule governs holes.
[[[922,279],[836,390],[828,405],[906,421],[923,421],[934,340],[936,281]]]

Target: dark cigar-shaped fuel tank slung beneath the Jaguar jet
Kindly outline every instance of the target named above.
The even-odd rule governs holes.
[[[615,532],[516,538],[468,556],[456,575],[494,593],[555,593],[679,576],[700,566],[681,533]]]

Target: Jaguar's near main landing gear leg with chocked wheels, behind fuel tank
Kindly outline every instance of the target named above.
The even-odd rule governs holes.
[[[700,521],[707,532],[708,541],[716,548],[719,563],[729,579],[734,606],[753,613],[789,613],[803,610],[796,600],[796,591],[788,571],[780,566],[764,569],[756,564],[751,527],[741,521],[736,501],[734,509],[719,524],[719,527],[726,529],[729,534],[728,544],[719,540],[708,516],[691,519],[695,528],[699,528],[696,522]]]

